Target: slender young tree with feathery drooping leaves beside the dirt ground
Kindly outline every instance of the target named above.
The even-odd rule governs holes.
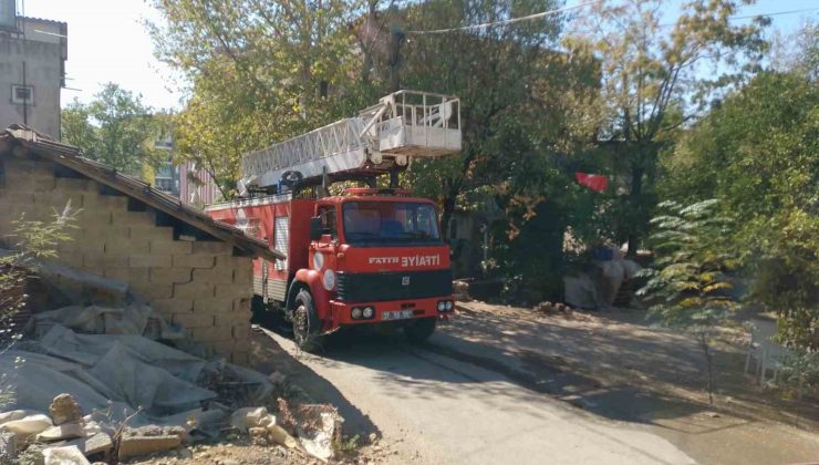
[[[668,327],[697,335],[705,356],[708,400],[714,403],[714,364],[711,334],[736,309],[727,278],[736,265],[725,244],[728,218],[719,217],[717,200],[683,206],[672,200],[657,205],[660,216],[651,220],[650,241],[656,254],[654,268],[637,296],[647,298],[650,312]]]

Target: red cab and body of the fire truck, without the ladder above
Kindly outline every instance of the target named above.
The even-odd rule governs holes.
[[[454,308],[449,249],[427,199],[349,189],[319,199],[239,199],[206,211],[287,255],[253,261],[255,301],[290,321],[307,307],[302,330],[313,339],[343,326],[390,322],[422,340]],[[294,332],[299,342],[296,324]]]

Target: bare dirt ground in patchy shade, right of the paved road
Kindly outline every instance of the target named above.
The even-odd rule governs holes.
[[[706,363],[699,345],[690,334],[650,326],[642,311],[547,316],[473,301],[458,306],[458,316],[445,331],[462,340],[502,348],[535,376],[546,371],[557,381],[545,390],[569,400],[584,390],[620,384],[708,405]],[[742,326],[718,331],[714,340],[716,395],[708,409],[819,431],[816,402],[787,401],[779,392],[761,390],[753,374],[745,374],[747,344],[748,332]],[[566,380],[560,380],[561,375]]]

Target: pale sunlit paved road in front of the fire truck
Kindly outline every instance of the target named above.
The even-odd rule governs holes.
[[[267,334],[325,380],[342,405],[354,406],[341,409],[345,432],[375,431],[391,444],[388,463],[694,463],[640,425],[591,415],[498,371],[400,341],[342,338],[315,356]]]

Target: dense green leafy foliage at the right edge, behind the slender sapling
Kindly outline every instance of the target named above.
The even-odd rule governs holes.
[[[666,198],[717,197],[755,302],[789,345],[819,348],[819,89],[766,72],[725,99],[664,161]]]

